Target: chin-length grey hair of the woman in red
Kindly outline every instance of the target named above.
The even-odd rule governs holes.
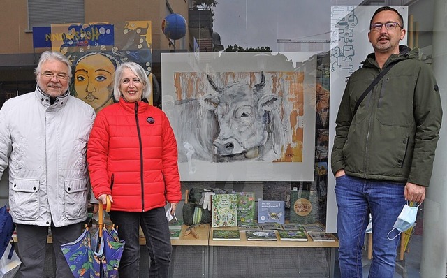
[[[151,95],[152,89],[149,86],[149,78],[147,78],[147,74],[145,70],[139,64],[133,61],[126,61],[125,63],[119,65],[117,70],[115,71],[114,80],[113,80],[113,97],[115,101],[119,101],[121,97],[121,92],[119,91],[119,84],[121,82],[121,78],[123,76],[124,69],[129,69],[132,73],[137,75],[137,77],[141,80],[143,85],[142,96],[141,98],[149,98]]]

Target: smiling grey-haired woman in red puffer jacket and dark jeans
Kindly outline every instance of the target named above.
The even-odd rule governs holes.
[[[110,219],[126,241],[119,277],[138,277],[139,227],[151,258],[150,275],[168,277],[170,233],[164,206],[174,214],[182,198],[177,143],[165,113],[142,99],[150,94],[144,69],[133,62],[115,71],[118,103],[103,108],[94,122],[87,162],[95,197],[112,201]]]

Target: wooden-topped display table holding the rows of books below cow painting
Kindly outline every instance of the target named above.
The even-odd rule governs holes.
[[[228,228],[230,229],[230,228]],[[234,228],[233,228],[234,229]],[[210,277],[333,277],[339,242],[212,240]]]

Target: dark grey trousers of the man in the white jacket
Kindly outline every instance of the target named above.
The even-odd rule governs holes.
[[[22,265],[15,277],[42,278],[45,275],[45,251],[48,237],[48,227],[16,224],[17,249]],[[61,244],[75,241],[82,232],[82,224],[64,227],[51,227],[54,256],[56,258],[56,277],[73,277]]]

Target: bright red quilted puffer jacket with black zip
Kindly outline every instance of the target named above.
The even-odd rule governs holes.
[[[182,198],[173,129],[147,103],[121,98],[98,112],[87,162],[94,195],[112,195],[112,210],[145,212]]]

